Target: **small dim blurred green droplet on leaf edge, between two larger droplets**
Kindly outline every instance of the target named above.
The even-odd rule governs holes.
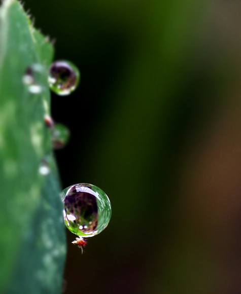
[[[70,139],[70,131],[63,124],[55,124],[52,128],[52,144],[54,149],[62,149]]]

